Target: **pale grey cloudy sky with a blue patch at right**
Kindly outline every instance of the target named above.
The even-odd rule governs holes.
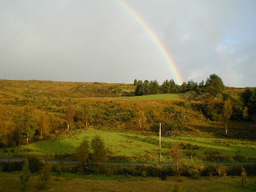
[[[256,86],[255,0],[0,0],[0,79]]]

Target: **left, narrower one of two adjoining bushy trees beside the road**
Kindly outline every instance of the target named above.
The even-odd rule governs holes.
[[[90,154],[90,142],[87,140],[87,138],[83,138],[83,141],[76,148],[75,154],[78,159],[79,165],[83,168],[86,168]]]

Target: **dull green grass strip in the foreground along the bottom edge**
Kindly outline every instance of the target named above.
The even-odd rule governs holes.
[[[1,173],[0,191],[20,191],[20,172]],[[33,175],[27,191],[36,190],[38,175]],[[125,177],[63,174],[51,177],[51,187],[47,191],[173,191],[177,184],[180,191],[255,191],[255,178],[248,177],[244,187],[240,177],[204,177],[191,179],[189,177]]]

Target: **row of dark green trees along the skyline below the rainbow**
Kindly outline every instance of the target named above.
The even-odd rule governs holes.
[[[159,93],[185,93],[185,92],[196,92],[196,93],[209,93],[209,95],[216,95],[221,93],[225,89],[222,79],[216,75],[211,74],[206,81],[201,83],[196,83],[193,80],[184,82],[181,85],[178,85],[173,81],[173,79],[166,79],[163,84],[159,84],[157,80],[154,81],[141,81],[134,80],[135,95],[154,95]]]

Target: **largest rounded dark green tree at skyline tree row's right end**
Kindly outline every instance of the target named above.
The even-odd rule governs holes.
[[[209,78],[205,81],[205,91],[209,92],[212,96],[223,92],[225,85],[222,79],[216,74],[211,74]]]

